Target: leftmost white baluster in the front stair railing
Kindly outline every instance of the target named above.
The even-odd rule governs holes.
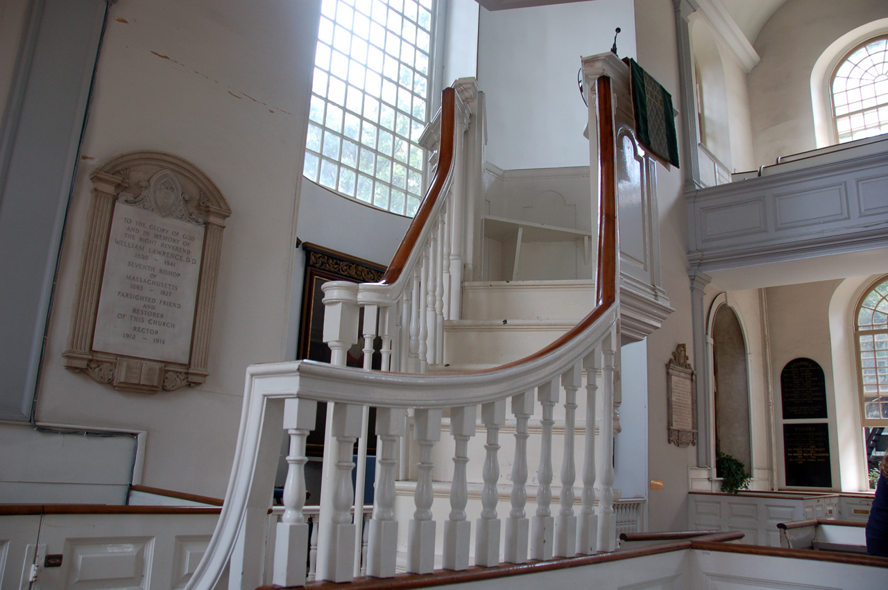
[[[305,554],[308,551],[308,523],[305,506],[305,437],[314,429],[317,402],[296,397],[284,401],[283,427],[289,433],[287,480],[283,486],[284,511],[277,524],[274,542],[273,583],[278,586],[305,586]]]

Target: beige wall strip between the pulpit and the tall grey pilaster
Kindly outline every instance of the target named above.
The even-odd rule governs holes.
[[[680,105],[674,22],[669,0],[635,0],[638,63],[670,92],[673,105]],[[662,490],[648,492],[648,523],[651,531],[679,531],[687,523],[687,468],[696,464],[696,449],[667,443],[665,365],[679,343],[685,342],[689,353],[694,349],[685,258],[687,221],[681,171],[657,164],[656,174],[662,283],[675,311],[646,339],[648,476],[663,482]],[[697,366],[698,361],[691,358],[691,363]],[[623,367],[624,373],[631,370]]]

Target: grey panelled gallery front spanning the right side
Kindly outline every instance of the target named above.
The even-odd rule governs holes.
[[[686,193],[688,261],[710,272],[884,245],[888,140],[788,157]]]

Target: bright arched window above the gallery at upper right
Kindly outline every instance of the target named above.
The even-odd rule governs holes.
[[[830,87],[838,143],[888,133],[888,35],[849,52]]]

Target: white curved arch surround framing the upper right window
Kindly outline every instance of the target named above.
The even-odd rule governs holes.
[[[872,20],[854,28],[829,47],[814,62],[811,70],[811,106],[814,117],[814,140],[817,147],[834,146],[836,131],[832,122],[832,97],[829,81],[845,54],[870,37],[888,33],[888,19]]]

